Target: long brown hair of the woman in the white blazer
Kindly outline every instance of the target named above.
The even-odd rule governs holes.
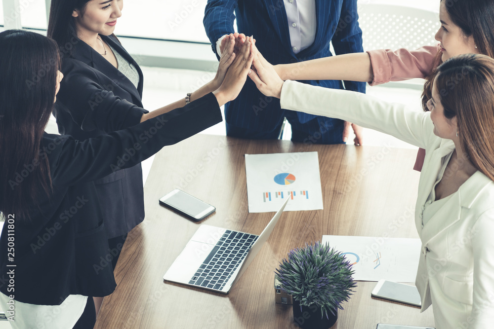
[[[494,59],[455,56],[438,67],[434,83],[445,117],[456,117],[468,159],[494,181]]]

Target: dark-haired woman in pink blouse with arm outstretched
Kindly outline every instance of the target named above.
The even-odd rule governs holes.
[[[436,68],[447,59],[466,53],[494,58],[494,1],[441,0],[436,46],[416,50],[371,50],[307,62],[275,66],[284,80],[335,79],[366,81],[371,86],[389,81],[424,78],[422,108],[431,97]],[[491,41],[490,41],[491,40]],[[425,150],[419,149],[414,169],[422,168]]]

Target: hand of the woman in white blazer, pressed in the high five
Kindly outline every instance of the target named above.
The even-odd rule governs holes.
[[[255,72],[252,70],[248,76],[254,81],[261,93],[266,96],[280,98],[284,81],[278,76],[274,67],[264,59],[255,45],[253,46],[253,51]]]

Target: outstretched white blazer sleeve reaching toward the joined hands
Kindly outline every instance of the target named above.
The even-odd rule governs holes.
[[[350,121],[422,148],[426,148],[434,134],[430,112],[410,110],[405,105],[353,91],[296,81],[285,81],[281,108]]]

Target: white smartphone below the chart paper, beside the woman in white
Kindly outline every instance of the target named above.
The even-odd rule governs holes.
[[[417,288],[403,283],[379,280],[372,290],[371,296],[418,307],[422,306]]]

